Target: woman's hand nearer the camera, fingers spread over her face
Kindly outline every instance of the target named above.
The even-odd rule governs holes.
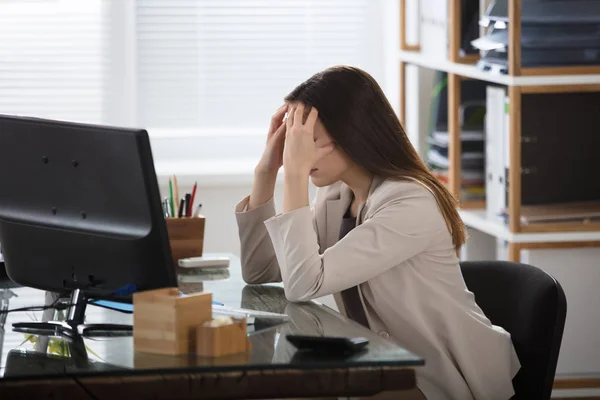
[[[314,139],[315,123],[319,113],[312,108],[306,123],[302,123],[304,104],[300,103],[286,120],[286,138],[283,149],[283,169],[285,174],[306,176],[315,163],[331,153],[335,148],[333,143],[317,147]]]

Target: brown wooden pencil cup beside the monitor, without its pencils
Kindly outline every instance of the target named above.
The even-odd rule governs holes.
[[[173,262],[189,257],[202,256],[204,247],[204,217],[167,218],[167,231],[171,244]]]

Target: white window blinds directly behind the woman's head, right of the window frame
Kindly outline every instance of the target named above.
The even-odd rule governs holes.
[[[313,73],[352,64],[377,76],[376,0],[137,0],[143,126],[266,129]]]

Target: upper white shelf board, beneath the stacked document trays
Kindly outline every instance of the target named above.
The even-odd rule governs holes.
[[[457,74],[467,78],[498,83],[506,86],[539,86],[539,85],[583,85],[600,84],[600,74],[595,75],[546,75],[546,76],[517,76],[497,75],[485,72],[472,64],[455,63],[423,56],[413,51],[400,51],[400,61],[420,67]]]

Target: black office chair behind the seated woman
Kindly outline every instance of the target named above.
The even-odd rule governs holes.
[[[526,264],[466,261],[460,267],[486,316],[512,336],[521,361],[514,398],[550,399],[567,314],[560,284]]]

